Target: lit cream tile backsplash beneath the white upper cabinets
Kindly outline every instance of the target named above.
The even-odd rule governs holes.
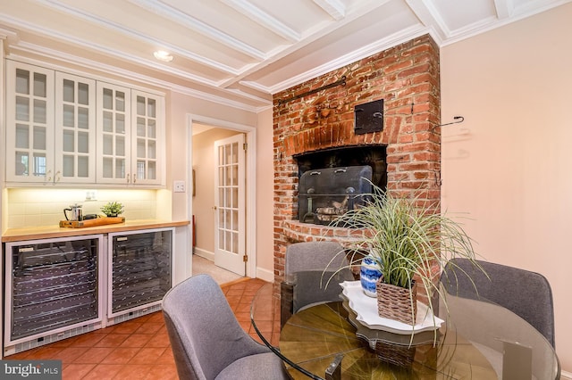
[[[101,207],[111,201],[122,202],[125,219],[156,219],[156,190],[18,188],[7,192],[7,227],[58,225],[65,220],[63,209],[74,203],[82,206],[84,215],[103,215]]]

